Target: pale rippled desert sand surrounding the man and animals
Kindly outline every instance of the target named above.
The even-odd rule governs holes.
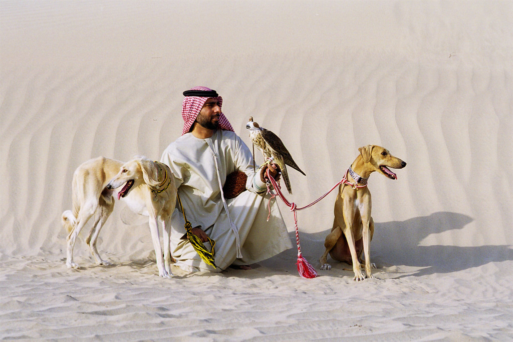
[[[0,338],[513,340],[512,69],[510,1],[0,1]],[[114,265],[84,232],[66,268],[74,169],[159,159],[198,85],[248,145],[249,116],[282,138],[298,206],[358,147],[408,163],[369,179],[376,279],[319,270],[335,192],[298,212],[314,279],[295,249],[160,278],[123,204],[98,243]]]

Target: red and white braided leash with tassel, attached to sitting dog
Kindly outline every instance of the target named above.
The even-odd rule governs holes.
[[[344,178],[342,178],[342,180],[340,180],[339,183],[335,184],[328,192],[326,192],[324,195],[322,195],[321,197],[319,197],[318,199],[314,200],[312,203],[310,203],[309,205],[307,206],[304,206],[304,207],[301,207],[301,208],[298,208],[298,206],[294,203],[294,202],[289,202],[287,200],[287,198],[285,198],[285,196],[283,195],[282,191],[281,191],[281,187],[280,185],[278,185],[278,182],[276,182],[276,180],[269,174],[269,169],[266,170],[266,174],[267,174],[267,179],[270,180],[271,184],[272,184],[272,187],[274,188],[274,190],[276,191],[276,194],[272,194],[271,192],[271,189],[269,187],[269,184],[267,184],[267,193],[271,193],[272,196],[271,198],[269,199],[269,204],[268,204],[268,208],[269,208],[269,215],[267,216],[267,220],[269,220],[269,217],[271,215],[271,200],[276,197],[277,195],[283,200],[283,203],[285,203],[285,205],[287,207],[290,208],[290,211],[292,211],[294,213],[294,223],[295,223],[295,240],[296,240],[296,244],[298,246],[298,272],[299,272],[299,275],[301,275],[303,278],[315,278],[317,277],[319,274],[315,271],[315,269],[308,263],[308,261],[306,261],[306,259],[303,257],[302,253],[301,253],[301,243],[300,243],[300,240],[299,240],[299,229],[298,229],[298,213],[297,211],[298,210],[303,210],[303,209],[306,209],[306,208],[310,208],[311,206],[317,204],[318,202],[320,202],[321,199],[323,199],[324,197],[326,197],[331,191],[333,191],[335,188],[337,188],[339,185],[341,184],[344,184],[344,185],[348,185],[351,187],[351,189],[353,190],[356,190],[356,189],[360,189],[360,188],[365,188],[367,186],[367,184],[365,185],[357,185],[355,183],[351,183],[349,182],[349,180],[347,180],[347,174],[349,172],[349,169],[346,170],[345,174],[344,174]]]

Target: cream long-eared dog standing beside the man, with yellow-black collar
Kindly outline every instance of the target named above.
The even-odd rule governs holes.
[[[170,277],[170,226],[167,224],[176,202],[176,187],[169,167],[145,158],[135,158],[123,164],[119,160],[98,157],[79,166],[73,174],[73,209],[63,213],[63,226],[68,230],[66,265],[77,268],[73,262],[76,237],[94,215],[94,224],[86,243],[96,264],[109,265],[98,254],[96,240],[102,226],[114,208],[114,190],[124,187],[117,198],[124,198],[135,213],[149,216],[149,226],[157,268],[161,277]],[[130,196],[127,197],[127,195]],[[157,219],[163,224],[164,256]]]

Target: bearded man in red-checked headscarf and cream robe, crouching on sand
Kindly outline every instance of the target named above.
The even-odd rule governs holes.
[[[221,111],[223,99],[215,90],[194,87],[184,92],[182,136],[171,143],[161,161],[171,168],[185,216],[192,233],[203,242],[215,241],[214,268],[207,265],[186,238],[182,211],[171,218],[171,253],[176,266],[186,271],[221,272],[229,266],[243,267],[292,247],[277,205],[271,205],[265,171],[277,179],[278,167],[264,164],[253,171],[253,157],[233,132]],[[246,189],[225,199],[226,176],[236,170],[247,175]]]

